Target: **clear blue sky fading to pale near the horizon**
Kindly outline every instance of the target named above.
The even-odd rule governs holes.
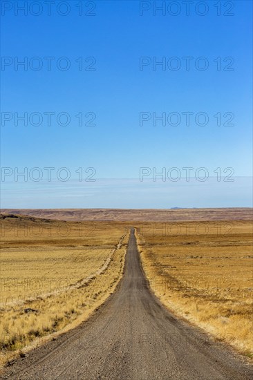
[[[198,4],[1,2],[1,207],[252,206],[252,1]]]

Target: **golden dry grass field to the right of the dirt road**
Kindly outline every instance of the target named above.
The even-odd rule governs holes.
[[[252,223],[136,227],[144,271],[162,303],[252,357]]]

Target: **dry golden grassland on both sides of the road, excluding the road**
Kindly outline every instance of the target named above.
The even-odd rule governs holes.
[[[212,212],[210,221],[200,222],[175,222],[178,216],[170,222],[66,222],[1,215],[1,363],[75,327],[106,300],[122,276],[130,225],[161,301],[251,357],[250,213],[240,209],[245,220],[225,220],[221,211],[218,221]],[[189,210],[179,213],[189,218]]]

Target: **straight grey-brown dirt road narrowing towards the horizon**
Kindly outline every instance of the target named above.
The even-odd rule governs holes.
[[[118,291],[95,314],[16,361],[1,379],[252,380],[221,343],[176,319],[150,292],[133,230]]]

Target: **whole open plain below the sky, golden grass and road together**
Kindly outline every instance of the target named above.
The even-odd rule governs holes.
[[[162,222],[158,211],[106,222],[11,211],[1,215],[1,378],[252,378],[250,209],[196,221],[196,210],[172,210],[180,221]]]

